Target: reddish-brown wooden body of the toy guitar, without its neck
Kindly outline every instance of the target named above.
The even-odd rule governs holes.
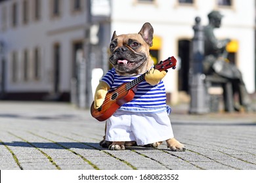
[[[121,84],[116,90],[108,92],[105,97],[105,101],[100,108],[94,108],[94,102],[91,105],[91,115],[96,120],[102,122],[107,120],[116,112],[117,108],[121,105],[128,103],[133,99],[136,92],[136,87],[131,90],[121,90],[125,87],[125,83]]]

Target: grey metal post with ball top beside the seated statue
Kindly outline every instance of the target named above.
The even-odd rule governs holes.
[[[194,38],[192,39],[192,60],[190,61],[190,113],[203,114],[209,112],[206,105],[205,75],[203,74],[204,37],[201,18],[196,17],[196,25],[193,26]]]

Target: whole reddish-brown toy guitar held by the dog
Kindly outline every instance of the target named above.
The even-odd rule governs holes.
[[[176,69],[177,60],[172,56],[164,61],[160,61],[157,65],[154,66],[155,69],[159,71],[165,71],[166,69],[172,68]],[[131,82],[127,82],[121,84],[116,90],[112,92],[108,92],[106,94],[105,100],[103,104],[99,108],[94,108],[94,102],[91,105],[91,115],[96,120],[102,122],[107,120],[116,112],[117,108],[121,107],[121,105],[128,103],[135,96],[135,92],[137,91],[137,85],[145,80],[146,73],[140,75],[135,80]]]

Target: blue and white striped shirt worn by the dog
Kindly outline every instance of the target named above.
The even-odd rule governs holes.
[[[135,80],[137,76],[120,76],[117,75],[113,68],[102,78],[110,86],[110,91],[116,89],[121,84]],[[163,81],[160,81],[156,86],[151,86],[145,80],[137,85],[135,97],[129,103],[125,103],[119,109],[132,112],[150,112],[160,113],[171,112],[171,108],[166,105],[166,92]]]

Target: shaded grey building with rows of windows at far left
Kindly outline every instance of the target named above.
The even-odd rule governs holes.
[[[75,51],[85,37],[84,1],[0,3],[2,87],[6,99],[42,99],[70,92]]]

